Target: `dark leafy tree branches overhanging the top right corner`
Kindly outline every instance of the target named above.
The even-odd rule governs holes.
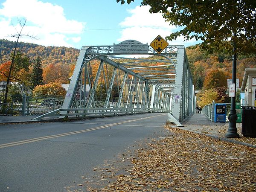
[[[201,48],[225,47],[232,52],[231,41],[238,52],[256,51],[255,0],[142,0],[141,4],[151,6],[151,13],[162,13],[171,25],[183,27],[166,37],[168,40],[183,35],[185,40],[202,40]]]

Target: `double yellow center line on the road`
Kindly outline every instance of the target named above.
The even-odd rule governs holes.
[[[166,115],[166,114],[160,114],[160,115],[157,115],[157,116],[162,116],[162,115]],[[15,146],[15,145],[23,145],[23,144],[26,144],[26,143],[33,143],[33,142],[37,142],[37,141],[41,141],[41,140],[52,139],[52,138],[56,138],[56,137],[63,137],[63,136],[67,136],[67,135],[80,134],[80,133],[84,133],[84,132],[88,132],[88,131],[94,131],[94,130],[97,130],[97,129],[107,128],[107,127],[110,127],[110,126],[120,125],[120,124],[124,124],[124,123],[127,123],[127,122],[133,122],[133,121],[138,121],[138,120],[142,120],[142,119],[149,119],[149,118],[157,117],[157,116],[149,116],[149,117],[144,117],[144,118],[139,118],[139,119],[127,120],[127,121],[117,122],[117,123],[113,123],[113,124],[102,125],[102,126],[99,126],[99,127],[96,127],[96,128],[84,129],[84,130],[81,130],[81,131],[72,131],[72,132],[68,132],[68,133],[49,135],[49,136],[44,136],[44,137],[37,137],[37,138],[17,141],[17,142],[13,142],[13,143],[5,143],[5,144],[1,144],[0,148],[12,147],[12,146]]]

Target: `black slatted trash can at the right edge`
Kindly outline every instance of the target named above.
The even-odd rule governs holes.
[[[242,134],[244,137],[256,137],[256,107],[242,106]]]

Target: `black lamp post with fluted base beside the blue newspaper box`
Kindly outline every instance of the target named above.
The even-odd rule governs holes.
[[[225,137],[236,138],[239,137],[236,128],[236,33],[233,35],[233,55],[232,55],[232,83],[235,84],[235,96],[231,97],[231,108],[230,114],[228,116],[229,119],[229,128],[227,129],[227,133]]]

